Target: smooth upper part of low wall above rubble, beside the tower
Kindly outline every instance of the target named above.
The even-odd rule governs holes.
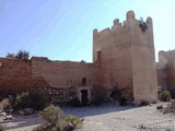
[[[92,63],[32,59],[33,76],[43,76],[51,87],[77,87],[86,79],[86,85],[98,85],[98,67]]]

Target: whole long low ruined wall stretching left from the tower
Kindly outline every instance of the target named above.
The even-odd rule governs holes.
[[[0,59],[0,92],[47,92],[55,102],[78,96],[78,88],[98,87],[98,66],[70,61]],[[82,81],[85,79],[85,85]]]

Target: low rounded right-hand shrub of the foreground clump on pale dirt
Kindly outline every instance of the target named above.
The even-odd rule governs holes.
[[[73,129],[75,129],[78,126],[80,126],[82,123],[81,118],[77,117],[77,116],[72,116],[69,115],[67,117],[65,117],[62,120],[60,120],[57,124],[57,127],[61,130],[61,131],[72,131]]]

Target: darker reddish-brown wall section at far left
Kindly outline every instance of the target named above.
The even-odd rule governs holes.
[[[31,62],[18,59],[0,59],[0,88],[25,88],[32,79]]]

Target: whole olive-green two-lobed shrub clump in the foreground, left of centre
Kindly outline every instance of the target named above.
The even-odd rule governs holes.
[[[33,131],[72,131],[82,123],[82,119],[79,117],[71,115],[63,117],[63,111],[54,105],[40,111],[40,118],[44,123]]]

